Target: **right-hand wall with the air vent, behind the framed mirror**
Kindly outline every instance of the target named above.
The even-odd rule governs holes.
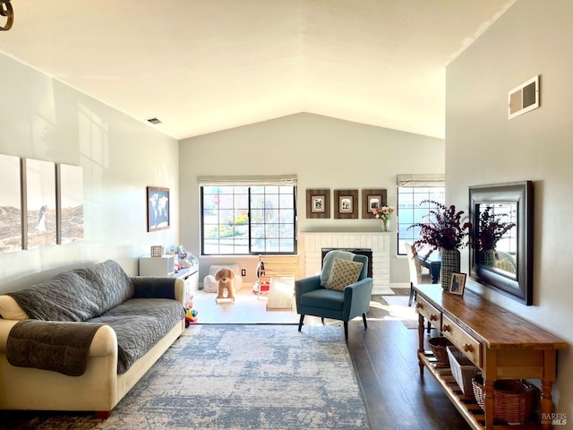
[[[476,288],[527,320],[573,340],[573,2],[519,0],[447,70],[446,184],[467,211],[469,185],[535,182],[534,305]],[[508,91],[541,75],[541,107],[508,119]],[[467,271],[467,255],[462,260]],[[462,268],[464,270],[464,268]],[[556,411],[573,420],[573,357],[560,351]]]

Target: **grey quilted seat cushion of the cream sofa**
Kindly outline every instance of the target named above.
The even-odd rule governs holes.
[[[117,336],[117,373],[153,348],[176,323],[184,319],[181,303],[168,298],[132,298],[90,323],[109,325]]]

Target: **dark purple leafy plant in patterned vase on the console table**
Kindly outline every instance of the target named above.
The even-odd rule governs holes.
[[[459,249],[467,245],[472,227],[471,222],[463,222],[464,211],[456,211],[455,205],[446,206],[440,202],[424,200],[420,204],[430,203],[436,209],[429,211],[423,218],[425,222],[411,225],[419,228],[420,238],[414,242],[416,249],[429,248],[426,257],[433,251],[441,253],[440,282],[441,287],[449,289],[451,273],[460,271]]]

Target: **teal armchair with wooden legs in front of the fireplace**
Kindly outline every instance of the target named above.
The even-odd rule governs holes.
[[[323,272],[327,268],[327,260],[333,258],[330,251],[324,257]],[[295,281],[296,313],[300,314],[298,331],[303,328],[304,315],[319,316],[342,321],[344,323],[344,336],[348,340],[348,321],[362,315],[364,329],[368,328],[366,313],[370,307],[372,297],[372,278],[367,277],[368,257],[354,254],[354,262],[362,262],[363,268],[358,280],[347,285],[344,291],[337,291],[321,286],[322,274]],[[328,266],[329,267],[329,266]]]

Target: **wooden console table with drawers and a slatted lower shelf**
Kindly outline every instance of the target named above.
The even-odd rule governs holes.
[[[552,386],[556,377],[557,350],[567,348],[564,340],[511,314],[500,306],[466,290],[463,297],[444,292],[441,286],[417,285],[416,311],[419,316],[418,360],[420,375],[424,367],[436,378],[449,400],[472,428],[552,428],[551,420],[522,426],[496,425],[493,422],[493,386],[500,379],[539,379],[542,387],[541,409],[551,417]],[[484,411],[473,396],[464,395],[449,369],[436,366],[424,348],[424,319],[441,331],[460,351],[479,367],[484,381]]]

